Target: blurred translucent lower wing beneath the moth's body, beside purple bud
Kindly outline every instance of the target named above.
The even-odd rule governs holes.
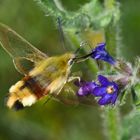
[[[66,83],[63,87],[61,93],[59,93],[55,98],[64,104],[68,105],[97,105],[95,97],[92,95],[88,96],[78,96],[77,95],[78,87],[75,86],[72,82]]]

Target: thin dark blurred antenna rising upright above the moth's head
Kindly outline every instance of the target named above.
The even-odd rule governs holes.
[[[62,44],[63,49],[66,50],[64,32],[62,29],[62,21],[61,21],[60,17],[57,18],[57,22],[58,22],[58,31],[59,31],[59,36],[60,36],[60,42]]]

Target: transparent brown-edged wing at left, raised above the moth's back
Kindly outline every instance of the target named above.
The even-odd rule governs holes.
[[[46,54],[42,53],[19,34],[2,23],[0,23],[0,44],[13,58],[16,69],[22,74],[28,73],[22,63],[23,60],[37,63],[47,58]]]

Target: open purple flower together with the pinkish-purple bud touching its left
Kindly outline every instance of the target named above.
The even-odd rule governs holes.
[[[100,105],[115,104],[119,87],[117,83],[109,81],[106,77],[99,75],[99,83],[80,81],[75,83],[79,88],[77,94],[80,96],[86,96],[92,94],[96,97],[101,97],[98,100]]]

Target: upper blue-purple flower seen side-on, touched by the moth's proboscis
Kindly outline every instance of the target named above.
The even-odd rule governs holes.
[[[96,60],[104,60],[111,65],[114,65],[116,61],[114,58],[106,51],[105,49],[105,43],[100,43],[97,45],[95,49],[92,50],[92,58]]]

